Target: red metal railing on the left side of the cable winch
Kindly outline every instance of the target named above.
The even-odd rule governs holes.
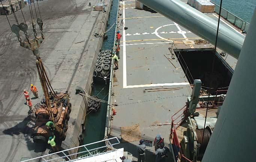
[[[176,128],[178,128],[180,126],[180,124],[184,121],[184,119],[187,118],[187,116],[186,116],[188,114],[187,111],[188,111],[188,105],[185,105],[183,108],[178,110],[178,112],[176,112],[174,115],[172,115],[172,125],[171,125],[171,130],[170,130],[171,131],[170,141],[174,145],[174,147],[172,147],[173,148],[172,150],[174,150],[174,156],[175,156],[176,161],[178,161],[178,156],[179,156],[180,160],[186,159],[187,161],[192,162],[184,156],[184,154],[181,150],[180,140],[178,138],[178,134],[177,134],[177,131],[176,131]],[[175,122],[178,119],[180,119],[180,120],[178,122]]]

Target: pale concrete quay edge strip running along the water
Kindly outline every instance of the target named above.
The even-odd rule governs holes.
[[[105,6],[106,13],[99,13],[96,18],[96,23],[94,24],[94,29],[92,30],[89,41],[85,44],[84,54],[82,56],[81,62],[78,65],[78,71],[74,76],[74,80],[70,86],[70,98],[72,103],[72,112],[70,113],[69,120],[69,129],[67,130],[66,140],[63,141],[63,149],[69,149],[72,147],[79,146],[78,137],[82,133],[82,124],[85,121],[85,115],[87,113],[87,102],[82,96],[75,94],[76,86],[80,86],[87,91],[88,94],[91,93],[91,84],[93,83],[93,71],[94,65],[96,63],[97,54],[99,53],[100,48],[102,47],[102,37],[95,37],[95,32],[104,32],[106,27],[105,25],[108,21],[109,11],[111,9],[112,0],[106,0],[108,6]],[[103,19],[103,20],[102,20]],[[75,150],[73,150],[75,151]],[[77,150],[76,150],[77,151]],[[72,152],[69,152],[72,153]],[[76,158],[76,157],[72,157]]]

